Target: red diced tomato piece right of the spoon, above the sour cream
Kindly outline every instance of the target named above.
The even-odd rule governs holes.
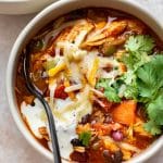
[[[54,92],[54,98],[58,99],[66,99],[68,95],[64,91],[64,85],[60,85],[57,87],[55,92]]]

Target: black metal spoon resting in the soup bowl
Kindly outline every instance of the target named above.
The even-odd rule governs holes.
[[[28,48],[27,48],[28,49]],[[51,135],[51,141],[52,141],[52,152],[53,152],[53,159],[54,163],[61,163],[61,155],[60,155],[60,148],[59,148],[59,142],[58,142],[58,136],[57,136],[57,129],[55,129],[55,124],[54,124],[54,118],[51,112],[51,109],[48,104],[48,102],[45,100],[42,92],[33,84],[30,77],[29,77],[29,51],[26,50],[24,53],[24,67],[23,67],[23,73],[26,82],[27,89],[40,100],[42,103],[48,122],[49,122],[49,128],[50,128],[50,135]]]

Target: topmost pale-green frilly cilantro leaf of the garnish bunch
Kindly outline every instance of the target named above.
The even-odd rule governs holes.
[[[127,53],[122,61],[129,70],[136,71],[143,63],[150,61],[151,51],[154,47],[154,40],[147,35],[130,36],[126,41],[125,48]]]

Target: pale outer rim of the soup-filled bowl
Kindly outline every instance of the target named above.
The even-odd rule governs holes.
[[[42,145],[40,145],[35,138],[34,136],[30,134],[30,131],[27,129],[27,127],[25,126],[20,111],[16,106],[16,101],[15,101],[15,95],[14,95],[14,68],[16,66],[15,60],[18,55],[18,51],[22,47],[22,42],[23,40],[25,40],[25,38],[27,37],[27,34],[32,32],[34,25],[36,25],[39,21],[42,21],[42,17],[45,17],[46,15],[48,15],[49,13],[51,13],[52,11],[54,11],[55,9],[60,8],[64,8],[65,5],[70,5],[71,2],[74,1],[79,1],[79,0],[61,0],[58,2],[54,2],[52,4],[50,4],[49,7],[47,7],[45,10],[42,10],[40,13],[38,13],[26,26],[25,28],[21,32],[21,34],[18,35],[12,50],[11,50],[11,54],[8,61],[8,66],[7,66],[7,78],[5,78],[5,87],[7,87],[7,98],[8,98],[8,103],[9,103],[9,108],[10,111],[12,113],[12,116],[14,118],[14,122],[16,123],[16,126],[18,127],[20,131],[24,135],[25,139],[34,147],[34,149],[36,149],[39,153],[41,153],[42,155],[45,155],[46,158],[48,158],[49,160],[53,160],[52,153],[50,151],[48,151],[45,147],[42,147]],[[113,0],[112,0],[113,1]],[[153,15],[145,8],[142,8],[139,3],[135,2],[135,1],[122,1],[122,0],[116,0],[117,2],[122,2],[124,4],[127,4],[128,7],[133,7],[138,11],[141,11],[141,13],[143,13],[145,15],[148,15],[153,22],[155,22],[155,24],[161,28],[161,23],[159,21],[155,21],[155,18],[153,17]],[[127,12],[127,11],[126,11]],[[150,156],[152,156],[161,147],[163,146],[163,136],[161,136],[158,140],[155,140],[155,142],[152,145],[152,147],[149,147],[145,152],[140,153],[138,156],[131,159],[131,163],[139,163],[139,162],[143,162],[147,159],[149,159]],[[128,162],[130,162],[128,161]]]

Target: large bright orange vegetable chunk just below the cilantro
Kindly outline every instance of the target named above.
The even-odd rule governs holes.
[[[136,121],[137,102],[134,100],[125,100],[112,111],[114,122],[133,125]]]

